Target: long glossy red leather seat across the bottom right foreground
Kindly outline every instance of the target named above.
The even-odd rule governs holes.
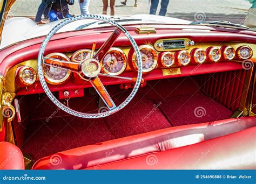
[[[255,168],[254,126],[256,117],[176,126],[52,154],[32,169]]]

